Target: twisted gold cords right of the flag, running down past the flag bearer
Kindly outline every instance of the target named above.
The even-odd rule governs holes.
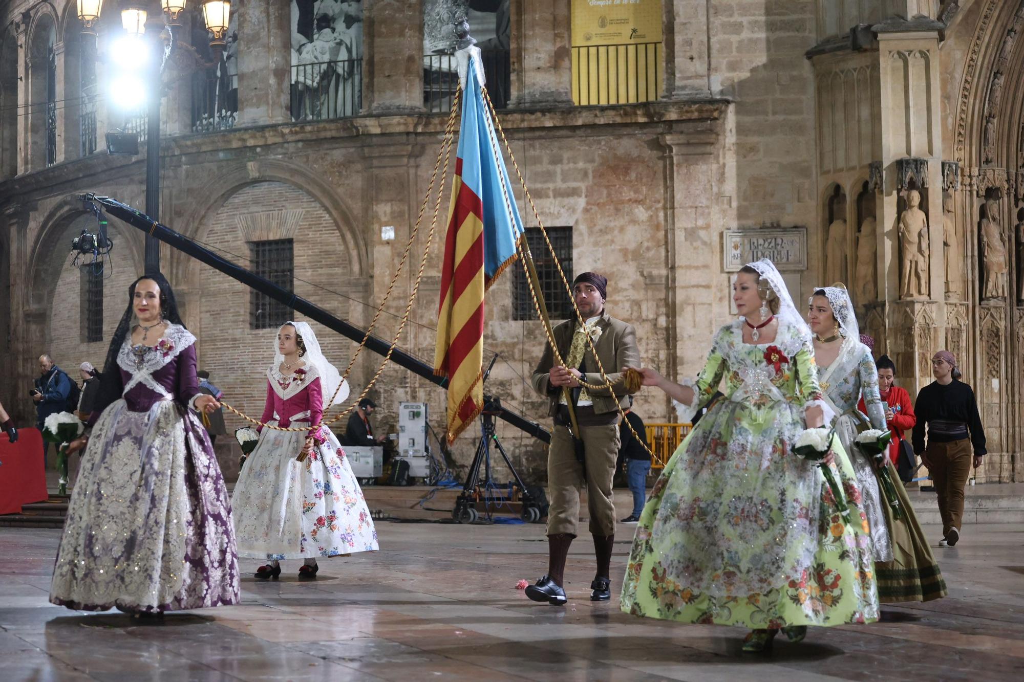
[[[522,190],[526,196],[526,201],[529,202],[529,207],[534,211],[534,217],[537,219],[537,224],[541,228],[541,233],[544,236],[544,241],[548,245],[548,250],[551,252],[551,257],[554,259],[555,267],[558,268],[558,274],[562,280],[562,284],[565,286],[565,291],[569,295],[569,301],[572,303],[572,310],[573,312],[575,312],[577,321],[579,321],[581,328],[585,327],[583,315],[580,313],[580,308],[578,308],[575,304],[575,297],[572,295],[572,287],[569,285],[568,280],[565,279],[565,272],[562,270],[562,264],[559,262],[558,255],[555,253],[555,247],[551,244],[551,240],[548,239],[548,230],[544,228],[544,221],[541,220],[541,215],[537,210],[537,206],[534,204],[534,198],[530,197],[529,195],[529,188],[526,187],[526,181],[522,177],[522,172],[519,171],[519,164],[516,163],[515,155],[512,154],[512,146],[509,144],[508,138],[505,136],[505,129],[502,127],[501,121],[498,120],[498,112],[495,111],[494,102],[490,101],[490,94],[487,92],[486,87],[481,86],[480,90],[483,92],[483,97],[487,100],[487,110],[490,112],[490,117],[495,122],[495,126],[498,128],[498,131],[502,135],[502,141],[505,143],[505,150],[508,152],[509,159],[512,161],[512,166],[515,168],[516,175],[518,175],[519,177],[519,183],[522,185]],[[490,137],[490,145],[494,154],[496,155],[496,157],[500,158],[500,152],[498,151],[497,141],[494,138],[493,130],[488,131],[488,136]],[[503,173],[499,173],[498,178],[501,181],[502,194],[505,197],[505,208],[509,212],[509,218],[512,218],[512,205],[509,202],[508,187],[505,185],[505,176]],[[524,257],[525,252],[527,252],[528,249],[529,245],[526,244],[525,235],[523,235],[516,242],[516,251],[519,254],[519,261],[522,264],[523,273],[526,275],[526,283],[527,286],[529,287],[529,296],[534,302],[534,309],[537,311],[538,318],[541,318],[542,317],[541,305],[540,303],[538,303],[537,292],[534,290],[534,282],[532,279],[529,276],[529,272],[526,268],[526,262]],[[544,327],[544,334],[548,338],[548,343],[551,344],[551,350],[554,353],[555,359],[558,361],[559,365],[564,367],[565,360],[562,358],[561,353],[559,353],[558,351],[558,344],[555,343],[552,331],[549,329],[548,325],[542,325],[542,327]],[[597,369],[600,372],[601,380],[604,383],[588,384],[581,377],[578,380],[580,385],[586,388],[587,390],[599,390],[601,388],[607,388],[608,392],[611,393],[612,399],[615,400],[615,409],[618,411],[618,416],[622,417],[623,422],[629,427],[630,432],[633,434],[633,437],[635,437],[637,441],[643,445],[643,449],[647,452],[648,455],[653,457],[654,456],[653,453],[651,453],[650,449],[647,446],[646,438],[641,438],[640,435],[633,428],[633,425],[630,424],[630,421],[626,419],[626,413],[623,411],[623,407],[618,403],[618,397],[615,395],[614,386],[612,385],[611,380],[608,379],[607,374],[605,374],[604,367],[601,365],[601,358],[597,354],[597,348],[594,347],[594,340],[590,337],[589,334],[584,334],[584,338],[587,339],[587,345],[590,347],[590,351],[594,355],[594,359],[597,361]],[[637,377],[635,376],[636,373],[631,374],[630,372],[626,372],[625,374],[626,376],[624,376],[623,378],[624,383],[627,385],[631,384],[635,385],[637,382]]]

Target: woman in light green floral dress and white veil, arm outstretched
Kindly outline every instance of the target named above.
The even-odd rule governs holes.
[[[878,620],[867,521],[837,512],[817,465],[793,453],[823,411],[810,330],[770,261],[740,270],[742,315],[715,336],[696,382],[641,370],[680,400],[684,421],[718,400],[672,456],[637,526],[622,608],[635,615],[753,628],[745,651],[793,641],[807,626]],[[859,502],[838,441],[827,466]],[[842,475],[840,474],[842,471]]]

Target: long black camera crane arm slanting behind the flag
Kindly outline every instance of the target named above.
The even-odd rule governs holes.
[[[181,251],[182,253],[191,256],[203,263],[206,263],[210,267],[223,272],[232,280],[241,282],[247,287],[269,296],[275,301],[284,303],[296,312],[300,312],[310,319],[318,322],[328,329],[331,329],[342,336],[351,339],[352,341],[360,342],[362,341],[364,336],[366,336],[366,330],[359,329],[349,322],[335,317],[327,310],[314,305],[301,296],[296,296],[294,293],[279,287],[272,282],[247,270],[241,265],[217,255],[213,251],[210,251],[199,244],[196,244],[187,237],[153,220],[150,216],[132,208],[131,206],[128,206],[127,204],[123,204],[116,199],[111,199],[110,197],[98,197],[94,194],[82,195],[82,201],[86,203],[95,202],[96,204],[99,204],[106,210],[108,213],[116,218],[120,218],[132,227],[137,227],[143,232],[152,235],[168,246],[177,249],[178,251]],[[391,348],[390,343],[380,337],[372,335],[367,338],[366,346],[368,350],[372,350],[379,355],[386,355],[388,350]],[[446,377],[438,377],[434,375],[432,367],[414,355],[411,355],[404,350],[401,350],[400,348],[396,347],[392,351],[391,361],[441,388],[447,389]],[[492,360],[492,365],[494,365],[494,360]],[[537,422],[530,421],[522,415],[511,412],[504,407],[500,407],[500,401],[496,398],[492,398],[492,396],[484,396],[484,402],[492,404],[497,403],[494,406],[497,408],[495,416],[499,419],[508,422],[512,426],[515,426],[539,440],[551,442],[551,432]]]

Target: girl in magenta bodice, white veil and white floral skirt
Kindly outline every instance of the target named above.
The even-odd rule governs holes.
[[[278,578],[284,559],[304,559],[299,578],[314,578],[316,557],[378,548],[370,510],[341,444],[326,426],[312,428],[323,417],[325,399],[336,391],[334,402],[344,401],[348,384],[324,357],[309,324],[286,323],[267,370],[260,421],[309,428],[260,427],[259,442],[234,486],[239,556],[267,561],[256,578]]]

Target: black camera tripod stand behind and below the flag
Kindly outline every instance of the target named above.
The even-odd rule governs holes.
[[[483,375],[483,381],[486,381],[487,375],[490,374],[490,369],[494,368],[495,360],[497,359],[497,354],[490,358],[490,365]],[[526,484],[522,482],[519,473],[512,466],[512,461],[509,459],[508,453],[502,446],[502,441],[498,439],[495,429],[495,416],[501,414],[501,412],[502,402],[500,398],[493,395],[483,396],[483,412],[480,413],[480,440],[476,443],[476,455],[473,456],[473,463],[469,466],[469,473],[466,475],[466,482],[462,486],[462,493],[456,499],[455,509],[452,510],[452,518],[459,523],[472,523],[479,518],[479,512],[477,512],[475,504],[483,497],[481,488],[482,491],[486,491],[494,482],[490,470],[492,441],[498,447],[502,459],[505,460],[505,466],[512,472],[515,484],[519,488],[519,499],[522,502],[522,520],[527,523],[536,523],[541,520],[540,503],[526,489]],[[482,476],[481,468],[483,470]],[[513,489],[508,496],[492,499],[498,503],[515,502],[515,491]]]

